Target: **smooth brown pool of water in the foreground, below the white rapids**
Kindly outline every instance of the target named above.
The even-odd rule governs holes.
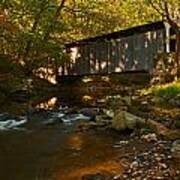
[[[73,129],[61,124],[27,133],[0,132],[0,179],[76,180],[91,172],[119,172],[116,137]]]

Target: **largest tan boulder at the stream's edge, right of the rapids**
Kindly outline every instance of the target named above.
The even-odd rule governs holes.
[[[115,111],[112,119],[112,128],[116,130],[135,129],[140,123],[145,123],[145,121],[129,112],[118,110]]]

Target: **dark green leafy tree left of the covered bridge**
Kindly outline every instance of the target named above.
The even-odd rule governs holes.
[[[29,76],[39,67],[57,64],[63,46],[54,36],[66,0],[2,0],[0,12],[0,53],[22,65]],[[4,20],[5,19],[5,20]],[[16,27],[15,31],[9,28]],[[5,28],[6,27],[6,28]],[[60,27],[60,26],[59,26]],[[63,29],[58,29],[59,34]]]

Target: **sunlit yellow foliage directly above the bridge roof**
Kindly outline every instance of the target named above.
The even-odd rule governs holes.
[[[69,26],[70,41],[101,35],[160,19],[144,0],[84,0],[66,9],[64,20]]]

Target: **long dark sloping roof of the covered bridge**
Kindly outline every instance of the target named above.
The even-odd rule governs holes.
[[[80,45],[85,45],[85,44],[88,44],[91,42],[106,41],[106,40],[117,39],[117,38],[121,38],[121,37],[132,36],[134,34],[140,34],[140,33],[144,33],[147,31],[163,29],[164,27],[165,26],[164,26],[163,21],[157,21],[157,22],[153,22],[153,23],[149,23],[149,24],[135,26],[135,27],[128,28],[125,30],[120,30],[120,31],[113,32],[113,33],[108,33],[108,34],[103,34],[100,36],[95,36],[95,37],[90,37],[87,39],[78,40],[78,41],[66,44],[65,47],[72,48],[72,47],[76,47],[76,46],[80,46]]]

